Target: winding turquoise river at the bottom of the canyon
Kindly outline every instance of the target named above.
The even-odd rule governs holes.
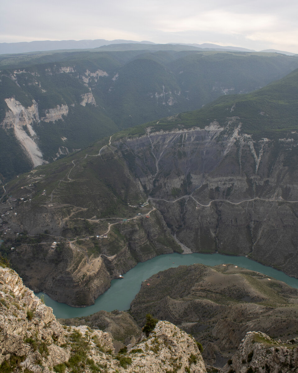
[[[54,315],[58,318],[88,316],[101,310],[109,312],[113,310],[128,310],[132,300],[135,298],[135,295],[141,289],[142,281],[150,278],[150,276],[159,271],[163,271],[171,267],[178,267],[181,265],[189,265],[194,263],[201,263],[207,266],[230,263],[239,267],[264,273],[264,275],[284,281],[293,288],[298,289],[298,279],[289,277],[281,271],[263,266],[262,264],[246,257],[197,253],[182,255],[175,253],[160,255],[153,259],[147,260],[144,263],[138,263],[137,266],[125,273],[124,280],[112,280],[110,289],[108,289],[103,295],[100,295],[95,300],[95,304],[88,307],[70,307],[67,304],[52,300],[46,294],[44,294],[44,301],[46,305],[53,308]],[[36,295],[41,297],[42,294],[43,293],[38,293]]]

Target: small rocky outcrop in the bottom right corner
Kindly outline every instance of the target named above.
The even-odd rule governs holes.
[[[220,373],[298,371],[298,338],[282,343],[261,332],[248,332]]]

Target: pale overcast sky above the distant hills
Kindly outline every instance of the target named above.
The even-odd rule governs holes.
[[[0,43],[82,39],[298,53],[298,1],[0,0]]]

